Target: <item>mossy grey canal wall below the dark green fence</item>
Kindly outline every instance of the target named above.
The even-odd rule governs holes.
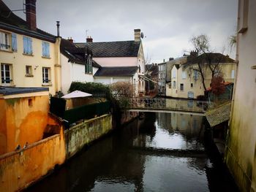
[[[83,146],[93,142],[112,129],[112,116],[102,115],[99,118],[86,120],[64,132],[67,158],[75,155]]]

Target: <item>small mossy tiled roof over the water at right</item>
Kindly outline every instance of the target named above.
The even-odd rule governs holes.
[[[206,112],[206,119],[211,127],[217,126],[220,123],[230,119],[231,102],[222,104],[214,110]]]

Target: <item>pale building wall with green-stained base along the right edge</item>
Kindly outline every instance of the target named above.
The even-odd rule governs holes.
[[[225,162],[241,191],[256,191],[256,1],[238,1],[236,55]]]

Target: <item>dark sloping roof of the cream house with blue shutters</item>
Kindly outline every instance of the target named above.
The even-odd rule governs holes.
[[[56,42],[56,37],[37,28],[36,31],[29,29],[28,23],[15,15],[3,1],[0,0],[0,28],[10,30],[15,33],[25,34],[49,42]]]

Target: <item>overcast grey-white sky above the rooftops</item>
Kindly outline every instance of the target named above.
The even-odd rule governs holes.
[[[10,9],[21,9],[23,0],[4,0]],[[146,36],[146,58],[161,62],[192,50],[189,39],[207,34],[211,49],[234,57],[228,37],[236,29],[238,0],[37,0],[37,26],[75,42],[125,41],[134,39],[134,29]],[[15,12],[25,18],[23,12]]]

